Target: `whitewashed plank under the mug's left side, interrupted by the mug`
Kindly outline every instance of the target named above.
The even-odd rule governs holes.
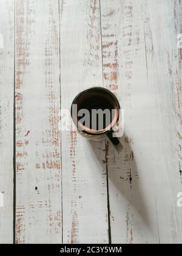
[[[99,1],[60,2],[61,108],[103,84]],[[72,126],[72,124],[70,124]],[[62,131],[63,242],[108,243],[106,148]]]

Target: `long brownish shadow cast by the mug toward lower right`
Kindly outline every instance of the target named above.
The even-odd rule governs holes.
[[[115,151],[110,145],[110,141],[88,140],[88,143],[102,169],[106,169],[109,185],[114,185],[118,194],[121,194],[122,198],[124,197],[127,201],[127,205],[133,209],[132,212],[140,216],[141,222],[136,223],[138,229],[143,229],[143,225],[145,225],[148,232],[154,233],[150,212],[141,189],[142,186],[132,149],[132,140],[125,134],[120,140],[122,144],[121,152]],[[105,144],[105,147],[103,144]],[[106,161],[103,160],[101,149],[105,152]],[[112,196],[110,190],[109,196]],[[113,194],[113,196],[116,196],[116,194]],[[124,202],[121,202],[121,204],[124,204]]]

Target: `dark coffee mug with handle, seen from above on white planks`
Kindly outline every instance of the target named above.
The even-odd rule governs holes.
[[[120,129],[120,103],[111,91],[102,87],[82,91],[73,99],[71,115],[83,137],[89,140],[107,138],[121,151],[121,141],[116,135]]]

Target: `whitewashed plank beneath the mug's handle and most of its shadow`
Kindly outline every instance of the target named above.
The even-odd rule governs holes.
[[[108,144],[106,154],[112,243],[158,243],[142,10],[143,1],[101,1],[104,87],[124,109],[124,151]]]

